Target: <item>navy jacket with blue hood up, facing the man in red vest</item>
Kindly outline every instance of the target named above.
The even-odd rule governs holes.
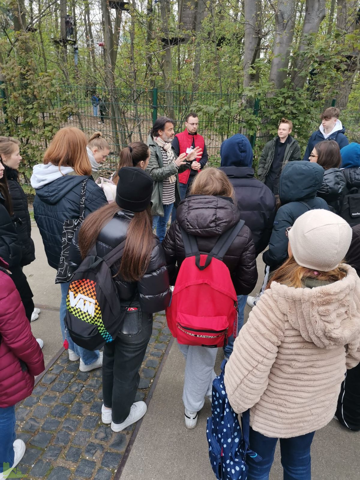
[[[275,197],[261,181],[254,178],[252,148],[240,133],[233,135],[220,147],[222,170],[232,183],[241,219],[252,231],[256,255],[270,239],[275,217]]]

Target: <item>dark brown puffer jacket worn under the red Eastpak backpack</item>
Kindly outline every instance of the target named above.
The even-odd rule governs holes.
[[[206,254],[211,252],[219,236],[234,227],[240,219],[239,208],[227,197],[189,195],[182,200],[176,221],[172,223],[162,243],[170,285],[175,284],[185,258],[180,225],[189,235],[197,237],[200,253]],[[257,269],[252,233],[245,225],[228,249],[224,263],[230,271],[237,295],[249,294],[256,285]]]

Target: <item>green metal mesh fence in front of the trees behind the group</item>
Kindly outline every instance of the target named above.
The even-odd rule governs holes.
[[[16,122],[20,127],[26,121],[25,113],[16,118],[7,118],[6,108],[16,102],[11,85],[0,89],[0,121],[2,132],[6,134],[6,122]],[[102,99],[103,108],[94,108],[92,96],[98,93]],[[39,93],[34,92],[25,98],[25,104],[38,102]],[[221,143],[235,133],[245,133],[252,143],[254,159],[256,159],[266,141],[272,138],[278,118],[271,116],[269,109],[259,99],[250,101],[238,94],[220,95],[218,93],[162,91],[151,90],[101,89],[63,85],[56,93],[47,97],[42,92],[42,103],[38,113],[39,122],[30,130],[36,133],[36,148],[45,149],[48,139],[41,135],[41,129],[46,128],[47,121],[54,118],[57,128],[76,126],[90,137],[94,132],[102,132],[110,144],[110,155],[104,166],[105,170],[113,170],[118,163],[122,147],[132,141],[146,142],[153,122],[157,117],[166,115],[175,120],[175,131],[184,128],[186,115],[191,111],[199,114],[199,133],[205,138],[209,154],[209,164],[217,165]],[[44,99],[46,101],[44,101]],[[23,96],[24,101],[24,96]],[[39,102],[38,102],[39,103]],[[330,100],[335,105],[336,100]],[[263,105],[260,107],[260,105]],[[324,107],[324,106],[323,106]],[[320,109],[320,107],[319,107]],[[322,108],[321,108],[322,109]],[[245,115],[246,113],[246,115]],[[308,134],[318,127],[319,117],[308,119]],[[246,120],[245,120],[246,119]],[[360,112],[342,111],[341,120],[346,126],[350,142],[360,143]],[[27,129],[29,131],[29,127]],[[15,130],[16,131],[16,130]],[[293,132],[297,137],[296,129]],[[306,135],[303,135],[306,136]],[[302,145],[307,138],[299,139]],[[31,136],[30,143],[34,143]]]

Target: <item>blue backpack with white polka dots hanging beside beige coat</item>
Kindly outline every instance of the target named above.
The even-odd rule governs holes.
[[[209,457],[218,480],[246,480],[246,456],[255,461],[262,458],[249,449],[250,410],[242,414],[241,432],[238,415],[229,404],[224,385],[225,365],[226,360],[221,364],[220,375],[213,382],[212,414],[207,419],[206,428]]]

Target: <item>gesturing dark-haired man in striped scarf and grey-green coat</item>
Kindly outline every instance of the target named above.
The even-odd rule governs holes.
[[[174,120],[159,117],[147,138],[150,159],[146,170],[154,179],[151,197],[153,229],[156,228],[160,242],[164,240],[172,207],[175,201],[180,202],[178,172],[186,168],[186,154],[178,156],[171,147],[174,134]],[[189,160],[196,160],[201,153],[200,148],[195,148]]]

